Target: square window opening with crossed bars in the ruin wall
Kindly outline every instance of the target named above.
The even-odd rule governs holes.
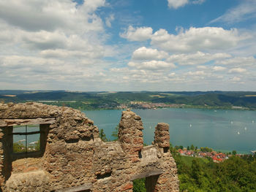
[[[40,150],[39,125],[13,126],[13,153],[29,153]]]

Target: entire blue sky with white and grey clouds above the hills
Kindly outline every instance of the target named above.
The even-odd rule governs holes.
[[[0,89],[256,91],[256,0],[0,0]]]

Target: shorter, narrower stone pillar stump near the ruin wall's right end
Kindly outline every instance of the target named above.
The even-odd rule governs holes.
[[[167,123],[158,123],[154,131],[154,145],[162,148],[167,153],[170,147],[169,125]]]

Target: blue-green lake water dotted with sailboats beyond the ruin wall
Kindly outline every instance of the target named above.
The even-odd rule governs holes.
[[[132,110],[143,120],[144,142],[154,140],[154,127],[159,122],[170,125],[173,145],[212,147],[215,150],[237,150],[249,153],[256,150],[256,112],[246,110],[159,109]],[[103,128],[108,139],[118,125],[121,110],[84,111]]]

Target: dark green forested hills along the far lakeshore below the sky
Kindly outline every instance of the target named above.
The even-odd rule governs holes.
[[[256,109],[256,92],[245,91],[166,91],[166,92],[70,92],[70,91],[0,91],[0,101],[40,101],[81,109],[114,109],[143,103],[178,104],[189,107],[246,107]]]

